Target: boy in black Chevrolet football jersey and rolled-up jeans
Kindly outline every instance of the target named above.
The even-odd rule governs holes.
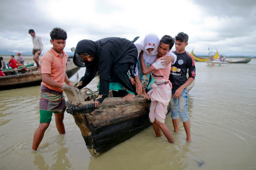
[[[181,32],[175,36],[174,54],[177,55],[176,62],[172,65],[170,81],[172,83],[172,98],[170,101],[170,112],[174,132],[179,131],[179,116],[183,122],[187,141],[190,137],[190,122],[187,115],[187,86],[195,79],[195,61],[193,57],[185,51],[188,42],[188,35]],[[187,79],[187,69],[189,69],[189,78]]]

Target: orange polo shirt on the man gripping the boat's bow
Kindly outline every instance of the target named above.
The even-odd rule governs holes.
[[[51,50],[47,51],[41,58],[41,73],[50,74],[50,78],[58,83],[65,85],[64,80],[67,68],[67,54],[65,51],[62,51],[62,53],[64,55],[61,58],[61,56],[52,48]],[[51,87],[44,82],[41,84],[48,87],[49,89],[63,92],[62,89]]]

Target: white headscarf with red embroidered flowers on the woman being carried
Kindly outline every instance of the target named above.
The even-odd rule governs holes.
[[[158,53],[159,42],[160,40],[158,36],[154,33],[148,33],[145,38],[140,37],[137,41],[134,42],[138,49],[138,57],[141,50],[143,50],[147,55],[156,55]],[[148,52],[148,48],[154,48],[154,50]]]

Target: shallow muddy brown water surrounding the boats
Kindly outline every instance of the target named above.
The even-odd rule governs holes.
[[[191,142],[186,142],[181,120],[175,133],[167,115],[175,144],[156,137],[151,126],[97,157],[90,155],[66,112],[66,134],[58,133],[53,116],[33,151],[40,86],[0,91],[0,169],[256,169],[256,59],[228,66],[195,64],[196,81],[188,94]],[[73,84],[84,71],[70,78]],[[94,79],[88,86],[96,90],[97,83]]]

